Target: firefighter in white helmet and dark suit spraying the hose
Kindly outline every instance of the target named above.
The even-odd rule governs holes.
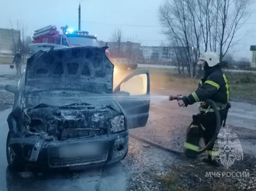
[[[198,89],[188,95],[184,100],[180,100],[178,105],[179,107],[187,107],[188,105],[209,98],[216,103],[222,124],[222,121],[227,115],[229,85],[225,74],[221,70],[219,60],[219,55],[215,52],[205,52],[202,54],[197,64],[203,66],[205,76],[201,79]],[[213,108],[201,102],[199,111],[200,113],[193,115],[193,121],[187,129],[185,155],[189,158],[196,158],[197,152],[199,151],[200,138],[202,137],[205,145],[207,145],[216,130],[216,115]],[[217,161],[212,160],[212,155],[218,154],[212,151],[213,145],[207,150],[208,157],[203,158],[203,161],[212,165],[218,165]]]

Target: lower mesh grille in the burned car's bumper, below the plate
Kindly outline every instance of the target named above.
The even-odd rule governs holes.
[[[107,160],[107,153],[95,156],[85,156],[78,158],[59,158],[53,157],[50,158],[50,165],[52,167],[65,167],[65,166],[75,166],[75,165],[86,165],[90,163],[100,163],[105,162]]]

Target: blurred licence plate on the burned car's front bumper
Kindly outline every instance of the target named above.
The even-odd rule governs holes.
[[[59,148],[61,158],[73,158],[79,156],[93,156],[102,154],[100,144],[70,145]]]

